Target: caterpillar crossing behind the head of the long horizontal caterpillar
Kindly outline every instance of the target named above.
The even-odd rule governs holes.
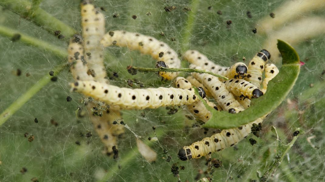
[[[177,88],[188,89],[192,87],[192,84],[183,77],[177,77],[175,81]],[[209,102],[207,98],[204,101],[215,110],[222,110],[220,106],[215,105],[213,102]],[[211,112],[208,111],[201,101],[187,105],[188,111],[190,111],[196,118],[206,122],[211,118]]]

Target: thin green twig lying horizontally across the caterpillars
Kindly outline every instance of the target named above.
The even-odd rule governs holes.
[[[211,71],[204,71],[204,70],[199,70],[199,69],[193,69],[193,68],[165,68],[165,67],[159,67],[159,68],[138,68],[138,67],[132,67],[132,69],[138,70],[140,72],[148,73],[148,72],[158,72],[158,71],[164,71],[164,72],[178,72],[178,71],[184,71],[188,73],[207,73],[210,75],[213,75],[215,77],[222,78],[224,80],[228,80],[227,77],[215,74]]]

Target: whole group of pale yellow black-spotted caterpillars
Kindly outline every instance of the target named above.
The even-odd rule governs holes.
[[[186,105],[188,111],[197,119],[206,122],[210,119],[211,113],[195,95],[193,86],[198,88],[200,97],[210,107],[217,111],[238,113],[249,107],[250,99],[262,96],[266,92],[268,81],[279,72],[275,65],[266,64],[270,54],[265,49],[257,53],[248,66],[239,62],[231,67],[217,65],[198,51],[188,50],[183,54],[183,58],[192,63],[190,68],[212,71],[226,76],[229,80],[201,73],[192,73],[185,79],[177,77],[177,72],[159,72],[164,79],[175,80],[176,88],[120,88],[110,85],[105,79],[103,47],[114,45],[139,50],[143,54],[151,55],[157,61],[156,67],[179,68],[180,59],[166,43],[153,37],[123,30],[109,31],[105,34],[104,16],[87,0],[82,1],[81,15],[83,37],[79,35],[72,37],[68,48],[71,72],[76,80],[71,83],[71,87],[73,91],[109,105],[103,117],[91,116],[91,121],[106,145],[108,154],[112,153],[113,146],[116,148],[115,136],[124,132],[123,126],[121,128],[118,127],[121,125],[111,124],[112,120],[122,119],[120,109]],[[262,83],[263,72],[265,79]],[[208,100],[206,96],[213,98],[216,103]],[[88,111],[95,106],[94,102],[88,103]],[[236,145],[251,132],[253,123],[261,123],[263,119],[264,117],[258,118],[240,128],[223,130],[220,134],[185,146],[179,151],[178,156],[181,160],[200,158]]]

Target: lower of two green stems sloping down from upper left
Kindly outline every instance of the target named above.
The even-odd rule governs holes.
[[[36,39],[34,37],[31,37],[31,36],[28,36],[28,35],[26,35],[24,33],[21,33],[21,32],[19,32],[17,30],[14,30],[14,29],[11,29],[11,28],[0,25],[0,35],[11,38],[15,34],[19,34],[20,35],[20,41],[22,41],[22,42],[24,42],[24,43],[26,43],[28,45],[34,46],[36,48],[44,49],[46,51],[50,51],[54,55],[57,55],[57,56],[62,57],[62,58],[68,57],[67,50],[64,49],[64,48],[61,48],[61,47],[58,47],[58,46],[53,46],[48,42]]]

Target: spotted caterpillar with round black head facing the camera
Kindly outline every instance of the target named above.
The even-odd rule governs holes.
[[[183,58],[192,64],[200,66],[203,70],[212,71],[227,78],[244,78],[247,73],[245,63],[238,62],[231,67],[219,66],[196,50],[186,51]]]

